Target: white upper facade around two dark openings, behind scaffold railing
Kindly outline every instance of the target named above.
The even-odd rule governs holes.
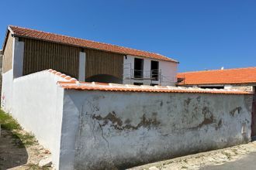
[[[133,79],[134,71],[134,59],[144,59],[143,73],[144,80]],[[150,80],[150,71],[151,71],[151,61],[159,62],[159,79]],[[161,86],[174,86],[176,83],[176,73],[177,73],[178,63],[158,60],[158,59],[149,59],[140,56],[124,56],[123,59],[123,83],[124,84],[133,84],[133,83],[143,83],[144,85],[150,85],[151,83],[161,85]]]

